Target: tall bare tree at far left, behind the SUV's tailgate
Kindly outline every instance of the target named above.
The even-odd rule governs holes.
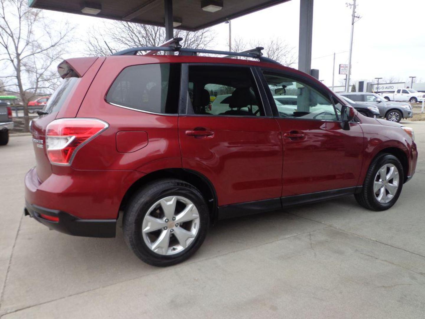
[[[26,131],[28,101],[55,87],[58,74],[52,66],[65,53],[72,30],[69,23],[58,24],[28,8],[27,0],[0,0],[0,77],[23,101]]]

